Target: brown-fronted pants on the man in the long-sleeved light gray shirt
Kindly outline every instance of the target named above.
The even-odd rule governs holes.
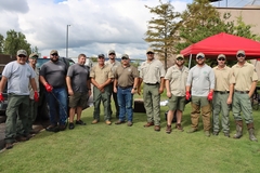
[[[204,131],[209,131],[210,125],[210,116],[211,116],[211,105],[208,102],[206,96],[192,96],[192,128],[198,129],[198,120],[200,115],[200,108],[202,108],[202,115],[203,115],[203,123],[204,123]]]

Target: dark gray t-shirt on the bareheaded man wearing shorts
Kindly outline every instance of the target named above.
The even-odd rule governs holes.
[[[87,80],[89,77],[89,67],[74,64],[68,68],[67,76],[70,77],[74,92],[87,92]]]

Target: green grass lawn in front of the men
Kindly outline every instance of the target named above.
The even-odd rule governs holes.
[[[113,103],[114,105],[114,103]],[[200,119],[199,131],[188,134],[190,104],[183,115],[184,132],[165,133],[161,107],[161,131],[143,128],[144,114],[134,114],[133,127],[112,125],[103,121],[91,124],[93,107],[83,111],[88,124],[58,133],[42,131],[30,141],[18,143],[0,154],[1,173],[98,172],[98,173],[258,173],[260,145],[248,139],[244,125],[240,139],[206,137]],[[114,111],[115,112],[115,111]],[[231,135],[235,133],[232,112]],[[115,117],[115,116],[114,116]],[[101,116],[103,118],[103,114]],[[260,139],[260,114],[253,111],[256,136]],[[102,120],[102,119],[101,119]],[[172,124],[174,127],[174,124]]]

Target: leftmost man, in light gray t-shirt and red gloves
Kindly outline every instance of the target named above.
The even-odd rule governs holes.
[[[28,112],[29,112],[29,88],[34,90],[34,98],[39,101],[39,95],[35,81],[35,71],[26,63],[27,52],[18,50],[16,61],[5,65],[0,82],[0,101],[3,102],[3,89],[8,82],[9,104],[6,108],[5,121],[5,148],[11,149],[13,143],[29,139]],[[18,78],[17,78],[18,77]],[[23,107],[21,109],[21,107]],[[22,121],[22,127],[16,131],[17,118]]]

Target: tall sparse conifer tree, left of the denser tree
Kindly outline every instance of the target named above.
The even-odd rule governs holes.
[[[159,0],[159,3],[154,8],[145,5],[156,17],[148,21],[148,29],[145,32],[144,40],[151,43],[151,46],[154,48],[161,59],[165,59],[165,68],[167,68],[168,55],[176,53],[173,45],[177,43],[176,34],[179,27],[180,13],[174,12],[174,6],[170,1],[162,3]]]

